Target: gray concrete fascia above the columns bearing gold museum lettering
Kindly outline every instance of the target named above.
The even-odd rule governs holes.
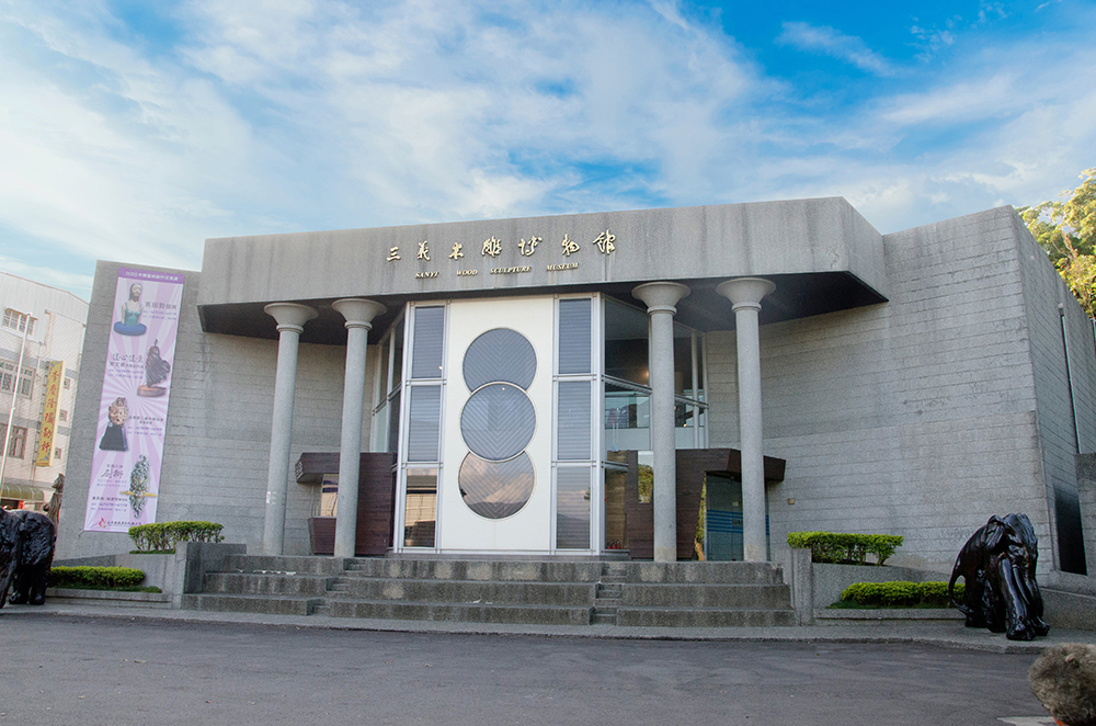
[[[613,254],[593,246],[606,230],[616,236]],[[563,256],[564,235],[580,251]],[[543,241],[525,257],[518,241],[533,236]],[[502,251],[484,258],[492,237]],[[424,240],[430,262],[416,259]],[[447,257],[454,243],[463,246],[459,260]],[[398,261],[387,259],[393,247]],[[522,274],[490,273],[526,265]],[[879,232],[844,198],[827,197],[210,239],[199,304],[842,271],[886,296],[883,266]]]

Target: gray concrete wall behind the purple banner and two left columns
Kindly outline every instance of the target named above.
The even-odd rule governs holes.
[[[114,262],[100,262],[95,272],[58,557],[115,554],[133,548],[126,534],[83,532],[118,266]],[[172,361],[157,521],[218,522],[225,525],[226,542],[247,544],[254,552],[261,547],[263,537],[277,343],[202,332],[197,291],[198,273],[187,272]],[[294,462],[302,451],[339,450],[344,356],[342,347],[300,347],[294,404]],[[370,350],[366,372],[370,382],[374,359],[375,351]],[[370,404],[372,388],[367,392],[363,417],[363,446],[369,441]],[[318,491],[316,487],[293,481],[292,467],[289,477],[286,554],[307,554],[307,518]]]

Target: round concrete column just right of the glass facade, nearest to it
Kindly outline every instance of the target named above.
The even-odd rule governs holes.
[[[674,440],[674,315],[688,295],[675,282],[631,291],[651,316],[651,450],[654,452],[654,561],[677,561],[677,445]]]

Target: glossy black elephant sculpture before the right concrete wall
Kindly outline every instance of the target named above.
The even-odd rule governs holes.
[[[967,616],[967,627],[987,627],[1009,640],[1047,635],[1042,595],[1035,580],[1039,540],[1026,514],[991,517],[959,551],[948,598]],[[962,602],[955,583],[966,581]]]

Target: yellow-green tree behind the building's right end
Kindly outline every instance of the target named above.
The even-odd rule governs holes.
[[[1088,317],[1096,317],[1096,168],[1081,174],[1081,185],[1017,212]]]

